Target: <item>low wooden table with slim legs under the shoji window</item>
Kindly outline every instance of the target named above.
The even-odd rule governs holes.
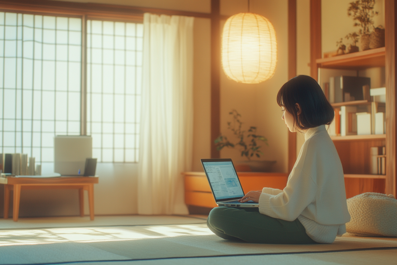
[[[62,176],[56,178],[15,178],[0,177],[4,184],[4,219],[8,219],[10,206],[10,191],[13,191],[13,221],[18,221],[21,190],[47,189],[77,189],[79,190],[80,216],[84,216],[84,191],[88,191],[90,219],[94,220],[94,184],[98,183],[96,176]]]

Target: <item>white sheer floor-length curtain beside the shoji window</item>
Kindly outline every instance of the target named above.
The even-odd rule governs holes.
[[[138,213],[187,214],[191,170],[193,17],[145,14]]]

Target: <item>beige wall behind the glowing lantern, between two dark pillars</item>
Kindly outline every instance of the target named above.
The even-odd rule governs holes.
[[[263,146],[264,160],[276,160],[273,171],[287,172],[287,128],[281,120],[281,108],[276,103],[280,87],[288,81],[288,17],[287,0],[251,0],[250,12],[263,15],[272,22],[277,36],[278,61],[274,76],[260,84],[241,84],[227,79],[221,71],[221,132],[235,140],[227,130],[228,114],[236,109],[242,116],[244,128],[256,126],[257,133],[268,139],[269,146]],[[233,15],[247,12],[247,1],[221,0],[221,14]],[[224,21],[223,21],[224,23]],[[243,161],[239,149],[221,151],[222,158]]]

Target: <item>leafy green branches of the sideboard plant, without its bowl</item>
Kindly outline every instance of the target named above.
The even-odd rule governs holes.
[[[251,160],[254,155],[256,157],[260,157],[261,155],[263,155],[262,151],[260,151],[261,146],[258,145],[256,141],[260,140],[266,143],[266,145],[269,145],[267,143],[268,140],[262,135],[257,135],[256,127],[254,126],[251,126],[247,132],[243,131],[241,128],[243,122],[240,121],[241,115],[237,112],[237,110],[232,110],[231,112],[229,112],[229,114],[233,116],[233,122],[227,122],[227,129],[233,132],[235,137],[237,137],[238,142],[231,143],[229,139],[227,139],[227,137],[225,135],[222,135],[221,133],[214,141],[216,149],[220,151],[224,147],[233,148],[236,146],[240,146],[241,156],[246,157],[248,160]],[[245,136],[245,133],[248,133],[248,135]]]

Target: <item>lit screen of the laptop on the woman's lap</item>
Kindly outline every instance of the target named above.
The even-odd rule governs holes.
[[[209,178],[215,200],[243,197],[239,178],[231,161],[202,162]]]

